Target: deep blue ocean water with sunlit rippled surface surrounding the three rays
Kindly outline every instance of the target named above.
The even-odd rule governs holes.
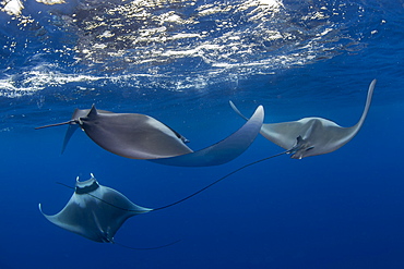
[[[52,3],[52,4],[50,4]],[[3,1],[0,11],[0,268],[403,268],[404,2],[281,0]],[[192,149],[246,114],[354,125],[341,149],[251,166],[92,242],[47,221],[75,178],[157,208],[283,151],[258,136],[218,167],[180,168],[112,155],[76,132],[75,108],[144,113]]]

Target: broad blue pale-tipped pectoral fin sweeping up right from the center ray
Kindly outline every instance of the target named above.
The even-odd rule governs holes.
[[[245,125],[225,139],[198,151],[177,157],[152,159],[150,161],[178,167],[219,166],[241,155],[260,133],[264,110],[259,106]]]

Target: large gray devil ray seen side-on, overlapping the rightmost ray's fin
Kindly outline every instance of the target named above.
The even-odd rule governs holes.
[[[156,119],[135,113],[114,113],[105,110],[76,109],[69,124],[63,149],[80,126],[104,149],[131,159],[146,159],[179,167],[207,167],[226,163],[241,155],[259,134],[264,111],[259,106],[250,120],[225,139],[198,151],[190,149],[182,135]]]

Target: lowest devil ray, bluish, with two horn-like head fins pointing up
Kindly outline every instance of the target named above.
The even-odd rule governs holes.
[[[92,178],[75,183],[75,191],[66,207],[57,215],[40,212],[54,224],[88,240],[114,243],[114,235],[130,217],[153,209],[138,206],[121,193],[102,186]]]

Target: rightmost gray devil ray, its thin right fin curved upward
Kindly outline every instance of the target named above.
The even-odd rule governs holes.
[[[290,158],[301,159],[309,156],[332,152],[348,143],[359,132],[368,114],[376,80],[370,83],[364,112],[352,127],[342,127],[322,118],[304,118],[293,122],[263,124],[261,135],[287,149]],[[231,108],[248,120],[230,101]]]

